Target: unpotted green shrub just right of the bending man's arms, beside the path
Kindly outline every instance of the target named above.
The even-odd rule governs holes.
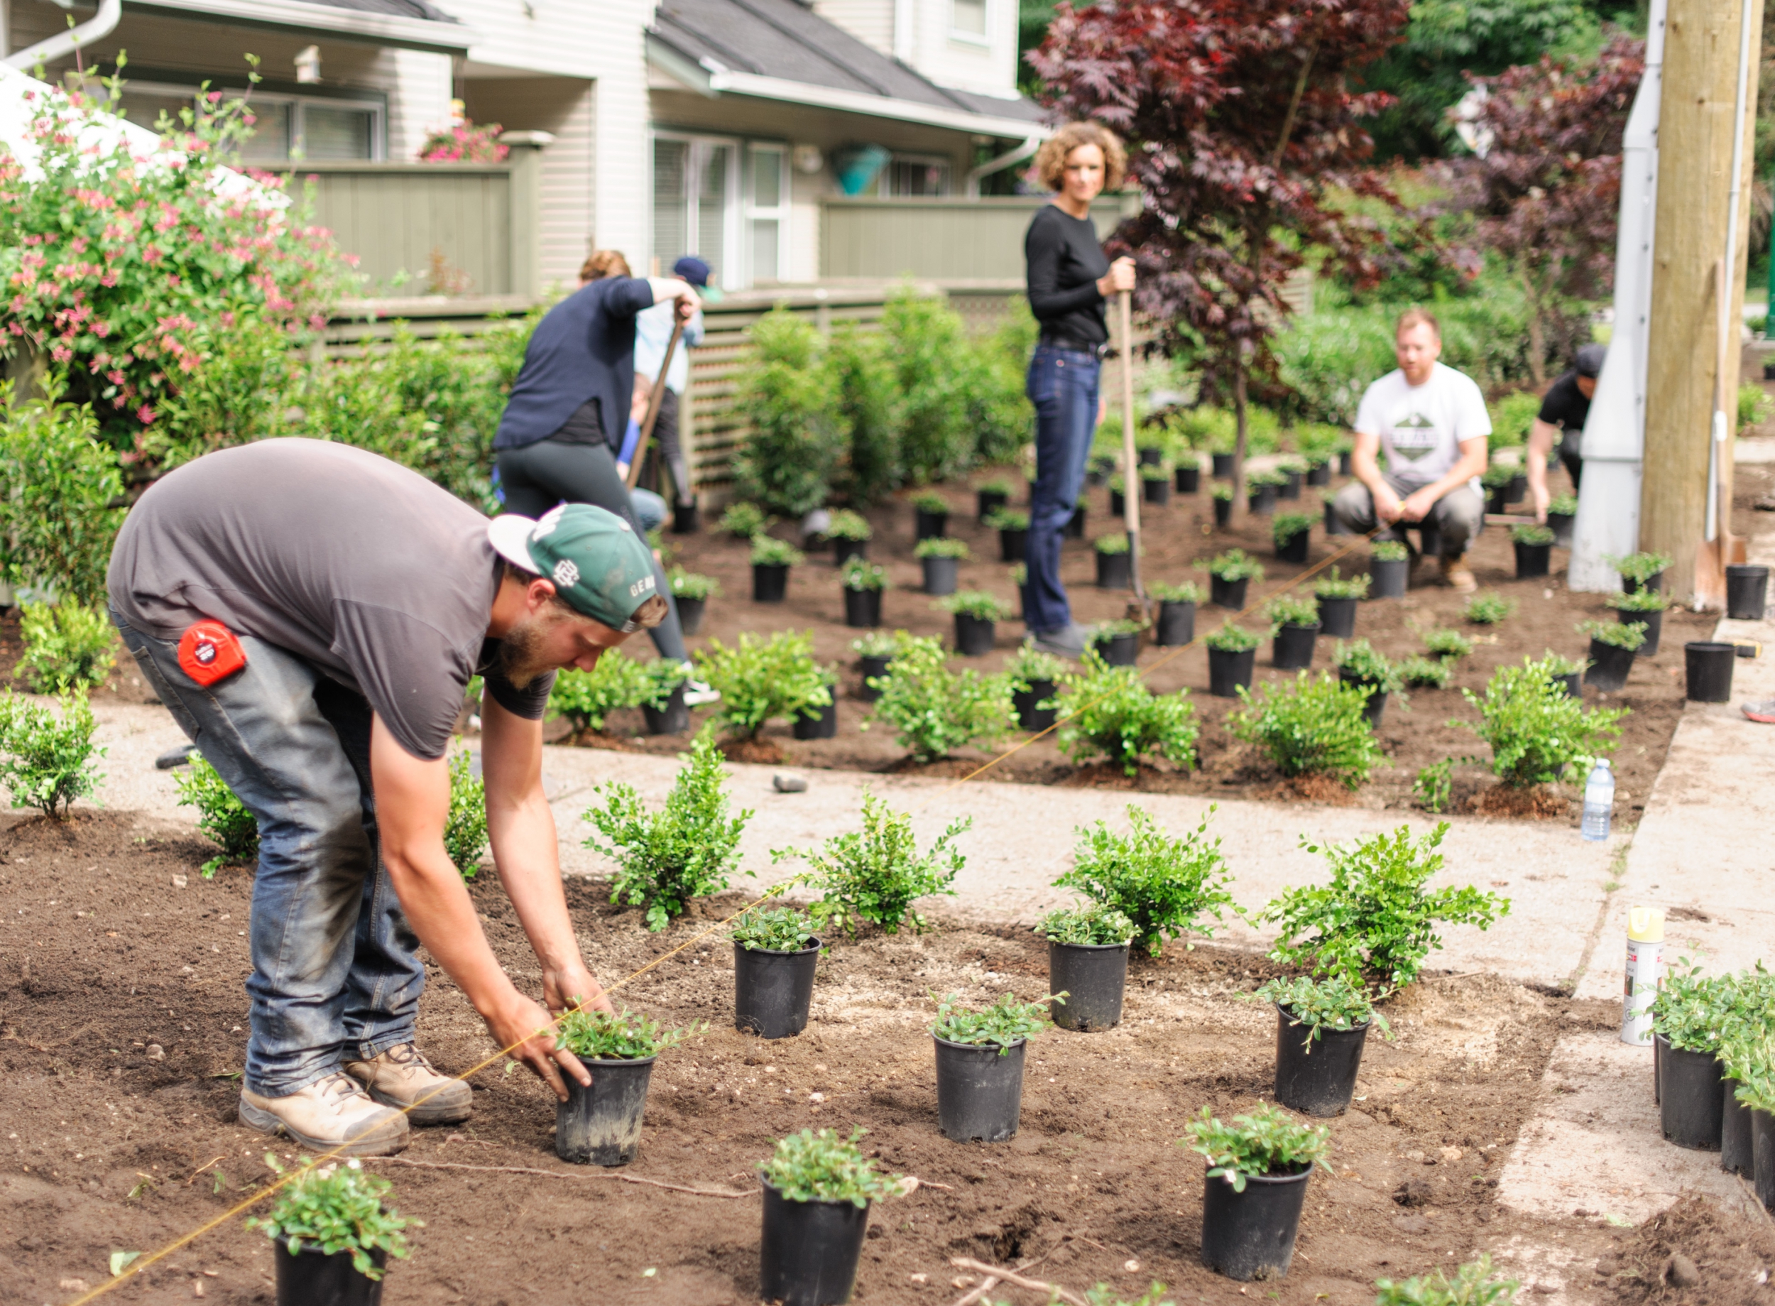
[[[664,930],[694,898],[726,889],[740,864],[740,832],[753,813],[728,818],[726,781],[714,729],[705,726],[660,811],[650,813],[641,795],[618,781],[600,784],[595,791],[604,806],[580,816],[609,839],[588,838],[586,846],[616,862],[611,901],[644,907],[648,930]]]

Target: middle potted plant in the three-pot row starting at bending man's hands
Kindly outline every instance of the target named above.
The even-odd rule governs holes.
[[[930,1036],[937,1049],[937,1129],[955,1143],[1003,1143],[1022,1114],[1022,1058],[1030,1036],[1047,1027],[1047,1004],[1005,994],[974,1010],[950,994],[937,1003]]]

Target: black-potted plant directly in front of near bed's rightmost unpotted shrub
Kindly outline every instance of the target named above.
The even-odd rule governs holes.
[[[1271,980],[1253,997],[1276,1006],[1276,1102],[1308,1116],[1342,1116],[1356,1093],[1369,1026],[1386,1017],[1344,976]]]

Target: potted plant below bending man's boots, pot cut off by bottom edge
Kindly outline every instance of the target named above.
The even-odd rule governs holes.
[[[282,1173],[270,1152],[264,1164]],[[389,1256],[405,1260],[408,1226],[383,1200],[394,1189],[357,1157],[328,1160],[289,1180],[266,1216],[247,1228],[263,1230],[277,1262],[277,1306],[378,1306]]]

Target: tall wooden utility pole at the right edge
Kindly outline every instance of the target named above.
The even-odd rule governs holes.
[[[1658,119],[1658,204],[1653,238],[1653,311],[1645,390],[1645,476],[1640,490],[1640,548],[1670,554],[1665,593],[1677,602],[1718,602],[1722,548],[1708,532],[1709,456],[1716,452],[1718,500],[1731,506],[1731,426],[1738,396],[1738,328],[1743,321],[1750,229],[1750,137],[1755,122],[1763,0],[1668,0],[1663,96]],[[1741,23],[1750,25],[1750,80],[1743,119]],[[1738,240],[1725,286],[1715,271],[1727,257],[1734,131]],[[1720,295],[1725,303],[1722,305]],[[1727,339],[1722,339],[1722,332]],[[1720,389],[1715,390],[1715,385]],[[1715,396],[1727,405],[1727,438],[1715,451]],[[1716,543],[1731,527],[1718,515]]]

